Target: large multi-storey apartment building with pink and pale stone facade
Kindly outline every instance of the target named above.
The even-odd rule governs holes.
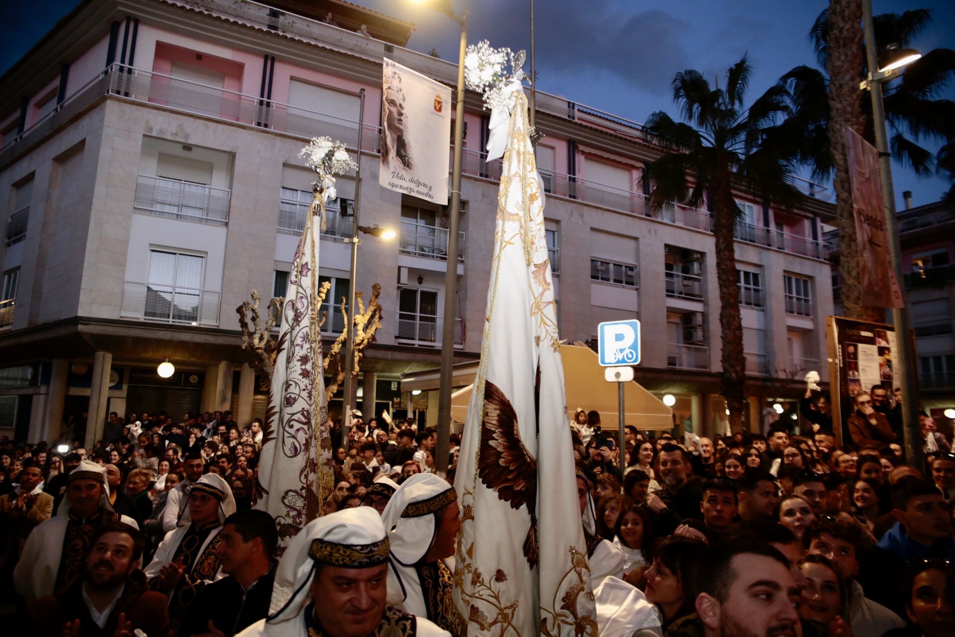
[[[324,24],[326,11],[345,17]],[[360,89],[363,179],[340,179],[330,206],[323,332],[330,340],[343,328],[332,299],[380,284],[383,328],[358,402],[366,415],[434,422],[436,385],[411,393],[402,379],[435,369],[441,347],[460,362],[479,355],[500,164],[484,159],[489,114],[468,94],[456,255],[446,209],[378,185],[382,59],[456,81],[454,63],[403,48],[413,31],[337,0],[86,0],[4,74],[0,432],[52,439],[87,412],[231,408],[243,423],[264,414],[267,379],[244,363],[234,311],[252,289],[284,293],[311,201],[299,150],[328,135],[357,152]],[[639,318],[638,381],[676,397],[681,426],[719,430],[710,212],[674,202],[649,214],[641,176],[659,151],[640,124],[545,93],[537,108],[562,338],[589,342],[601,321]],[[810,369],[828,376],[819,361],[833,302],[820,232],[833,208],[806,185],[789,211],[738,193],[754,427],[765,398],[797,398]],[[342,240],[359,192],[362,223],[398,237],[364,237],[352,282]],[[459,309],[455,343],[442,344],[449,262]],[[176,367],[169,378],[156,372],[165,360]],[[332,401],[333,416],[340,406]]]

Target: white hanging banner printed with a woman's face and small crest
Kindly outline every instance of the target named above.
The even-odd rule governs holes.
[[[451,89],[389,59],[383,69],[378,183],[447,205]]]

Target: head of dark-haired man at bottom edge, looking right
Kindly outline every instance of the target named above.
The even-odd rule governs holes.
[[[789,564],[760,542],[716,544],[696,568],[705,637],[796,637],[799,588]]]

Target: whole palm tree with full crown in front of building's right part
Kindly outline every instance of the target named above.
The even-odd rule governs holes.
[[[800,197],[789,185],[793,177],[789,152],[795,142],[784,138],[787,132],[776,124],[789,115],[788,93],[775,85],[744,108],[751,73],[744,55],[727,72],[724,89],[711,87],[698,71],[676,74],[673,101],[684,121],[663,111],[647,119],[647,138],[665,152],[647,163],[643,178],[649,187],[647,207],[653,213],[673,201],[696,207],[709,203],[720,299],[722,393],[733,431],[742,428],[746,370],[733,251],[733,230],[742,211],[733,199],[733,188],[785,208]]]

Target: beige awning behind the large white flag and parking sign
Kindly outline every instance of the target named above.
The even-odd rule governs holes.
[[[582,408],[601,414],[605,430],[617,431],[620,423],[617,383],[604,380],[604,368],[597,361],[597,352],[578,345],[562,345],[563,387],[570,414]],[[464,422],[474,385],[468,385],[451,394],[451,417]],[[673,413],[652,393],[636,382],[624,383],[624,424],[640,430],[669,430],[673,428]]]

